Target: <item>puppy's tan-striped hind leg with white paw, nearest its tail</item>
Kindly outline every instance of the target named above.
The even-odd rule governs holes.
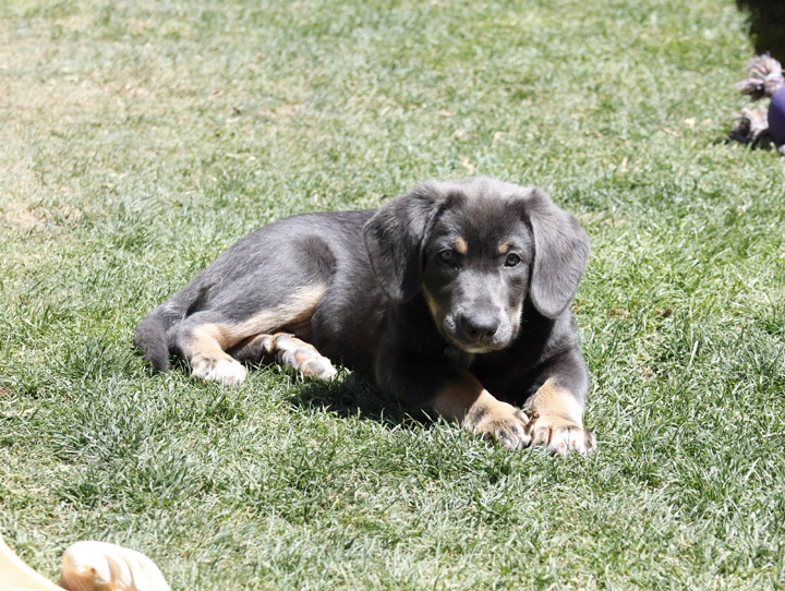
[[[309,318],[324,297],[325,286],[302,288],[289,301],[254,314],[239,324],[203,324],[194,328],[183,353],[192,375],[233,385],[245,379],[247,371],[226,350],[254,335],[274,333],[287,324]]]

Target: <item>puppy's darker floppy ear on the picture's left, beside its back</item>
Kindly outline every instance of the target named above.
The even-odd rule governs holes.
[[[411,300],[420,291],[422,246],[443,200],[437,183],[419,184],[382,207],[363,227],[376,281],[394,301]]]

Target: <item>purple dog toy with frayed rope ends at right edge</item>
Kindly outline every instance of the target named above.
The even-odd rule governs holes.
[[[749,77],[736,83],[752,100],[771,97],[769,109],[742,109],[730,136],[745,144],[773,143],[785,154],[785,77],[782,65],[771,56],[758,56],[747,70]]]

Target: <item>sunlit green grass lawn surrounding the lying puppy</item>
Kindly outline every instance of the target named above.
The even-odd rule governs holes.
[[[0,532],[174,589],[785,586],[785,160],[723,138],[732,0],[0,7]],[[134,324],[237,239],[427,178],[546,188],[592,239],[588,457]]]

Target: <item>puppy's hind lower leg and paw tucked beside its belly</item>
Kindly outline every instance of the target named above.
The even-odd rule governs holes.
[[[244,363],[275,360],[281,367],[294,370],[304,377],[331,382],[338,374],[329,359],[291,333],[257,335],[230,352],[234,359]]]

